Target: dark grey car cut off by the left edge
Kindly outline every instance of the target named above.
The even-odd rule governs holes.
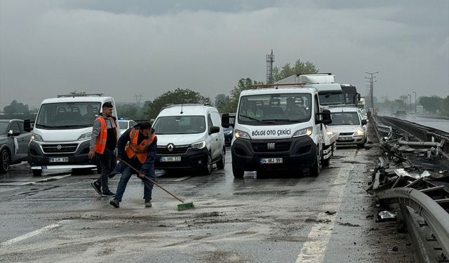
[[[11,164],[27,161],[30,138],[22,120],[0,120],[0,173],[7,173]]]

